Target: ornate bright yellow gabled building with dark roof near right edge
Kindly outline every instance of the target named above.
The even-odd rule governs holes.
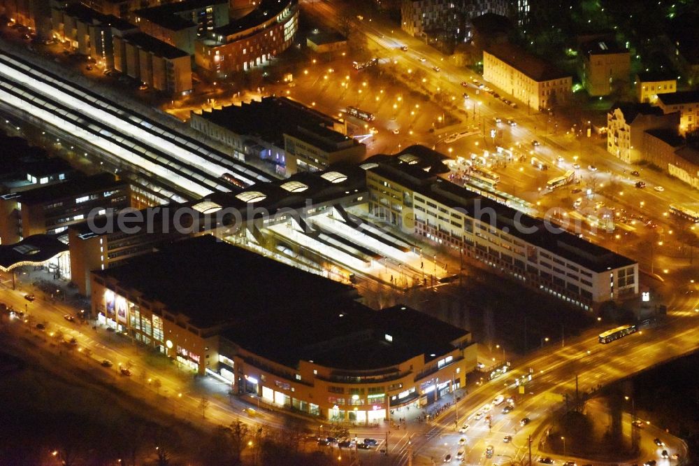
[[[640,162],[645,131],[678,126],[679,112],[663,114],[650,104],[615,104],[607,112],[607,152],[627,164]]]

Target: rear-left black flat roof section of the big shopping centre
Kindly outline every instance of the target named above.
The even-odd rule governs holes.
[[[93,272],[120,288],[163,303],[200,328],[226,325],[259,313],[309,308],[354,296],[354,288],[296,269],[211,235],[177,241]],[[265,332],[259,332],[264,334]]]

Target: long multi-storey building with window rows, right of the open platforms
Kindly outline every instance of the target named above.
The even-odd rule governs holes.
[[[439,178],[439,156],[412,146],[366,160],[369,213],[582,309],[638,293],[636,262]]]

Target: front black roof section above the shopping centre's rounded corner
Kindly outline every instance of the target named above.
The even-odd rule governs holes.
[[[371,371],[420,355],[426,361],[443,357],[468,332],[400,304],[374,311],[348,301],[255,316],[222,335],[287,367],[305,360],[333,369]]]

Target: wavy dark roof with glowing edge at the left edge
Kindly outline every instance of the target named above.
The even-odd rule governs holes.
[[[65,253],[68,245],[48,234],[34,234],[19,243],[0,246],[0,270],[9,271],[23,265],[41,265]]]

